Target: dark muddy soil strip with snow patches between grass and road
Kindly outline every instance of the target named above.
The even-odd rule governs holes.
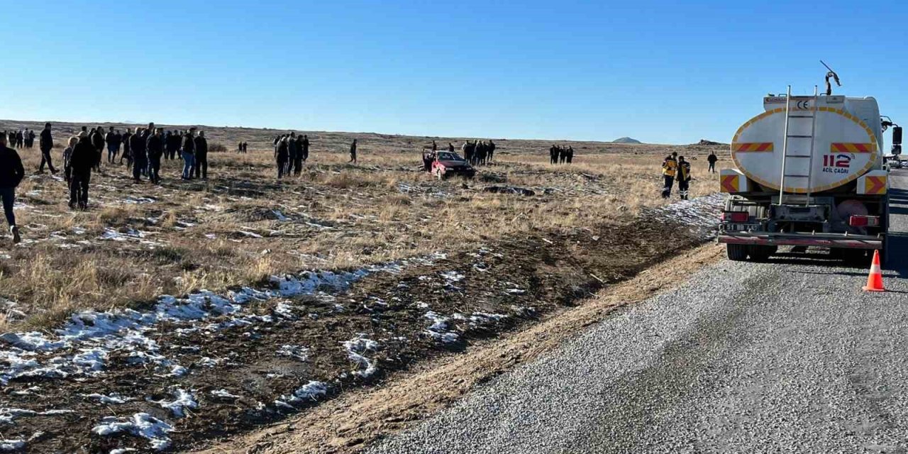
[[[29,452],[107,452],[182,450],[261,428],[538,322],[703,241],[684,226],[644,216],[473,245],[349,285],[319,281],[292,298],[281,291],[294,281],[276,280],[278,296],[250,298],[242,317],[215,312],[200,322],[214,329],[179,320],[154,325],[147,337],[166,363],[135,360],[133,350],[121,349],[71,377],[12,378],[0,396],[0,433],[25,441]],[[31,359],[53,363],[34,353]]]

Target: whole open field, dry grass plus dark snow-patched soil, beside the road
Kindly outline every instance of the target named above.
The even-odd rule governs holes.
[[[55,141],[77,128],[54,125]],[[392,380],[702,242],[684,211],[658,211],[677,202],[659,197],[660,165],[693,158],[696,197],[718,189],[706,154],[725,154],[570,143],[574,163],[550,165],[551,143],[496,140],[475,179],[439,181],[419,172],[421,150],[463,138],[312,132],[301,175],[278,180],[280,132],[203,129],[231,150],[210,153],[208,180],[180,180],[177,160],[161,185],[136,184],[104,163],[85,212],[66,206],[62,179],[33,174],[36,149],[20,151],[24,241],[0,239],[6,439],[31,452],[186,449]],[[240,141],[248,154],[232,152]],[[534,195],[485,190],[501,185]],[[138,434],[129,415],[172,426]]]

